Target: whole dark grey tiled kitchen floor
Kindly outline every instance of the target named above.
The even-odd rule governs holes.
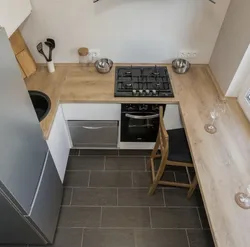
[[[147,152],[72,150],[56,247],[213,247],[202,199],[159,187],[148,196]],[[187,179],[168,169],[172,181]]]

